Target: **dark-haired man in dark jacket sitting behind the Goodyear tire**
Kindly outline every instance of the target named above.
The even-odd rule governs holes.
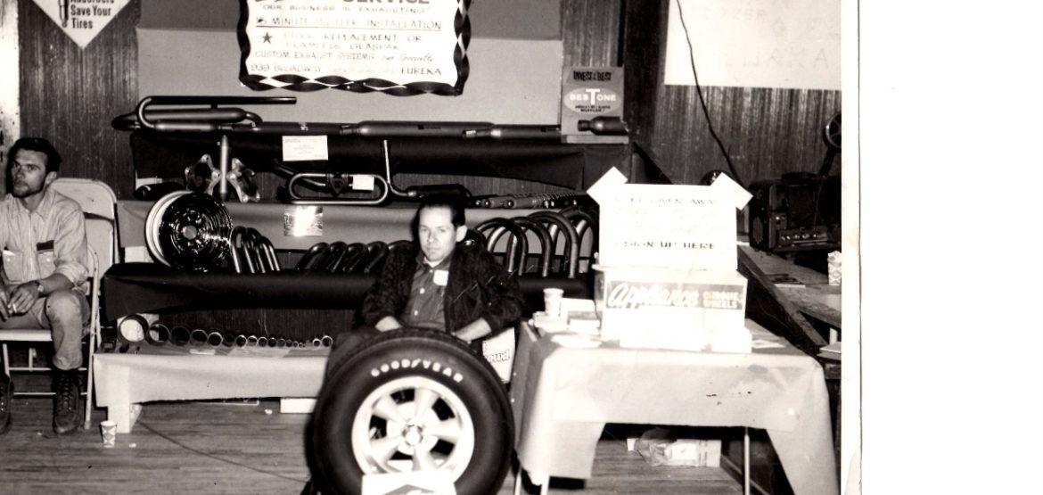
[[[479,347],[522,315],[517,280],[467,234],[463,205],[425,198],[413,220],[416,243],[392,251],[362,303],[363,326],[342,333],[330,362],[365,338],[403,327],[450,332]]]

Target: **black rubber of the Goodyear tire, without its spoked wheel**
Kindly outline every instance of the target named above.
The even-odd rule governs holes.
[[[423,377],[456,394],[475,428],[475,449],[456,480],[460,495],[500,488],[513,450],[513,418],[503,384],[484,359],[461,343],[430,332],[389,332],[346,357],[326,377],[315,407],[312,448],[320,486],[329,493],[361,493],[363,472],[351,427],[363,401],[378,387]],[[325,493],[325,492],[324,492]]]

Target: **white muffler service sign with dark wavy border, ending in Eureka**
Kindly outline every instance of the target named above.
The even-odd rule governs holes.
[[[257,91],[459,95],[468,73],[469,3],[241,0],[239,79]]]

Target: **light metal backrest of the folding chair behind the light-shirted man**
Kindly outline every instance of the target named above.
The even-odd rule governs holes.
[[[98,256],[98,273],[104,274],[118,260],[116,244],[116,193],[103,182],[58,178],[51,187],[75,201],[83,210],[87,243]]]

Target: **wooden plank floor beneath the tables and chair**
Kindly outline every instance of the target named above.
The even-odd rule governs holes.
[[[307,417],[280,414],[276,400],[149,403],[115,448],[101,446],[103,409],[91,430],[57,437],[49,398],[16,397],[14,405],[11,430],[0,437],[3,494],[297,494],[309,477]],[[512,493],[513,481],[509,474],[499,493]],[[742,485],[718,468],[653,468],[623,440],[602,440],[592,478],[554,479],[550,493],[738,494]]]

